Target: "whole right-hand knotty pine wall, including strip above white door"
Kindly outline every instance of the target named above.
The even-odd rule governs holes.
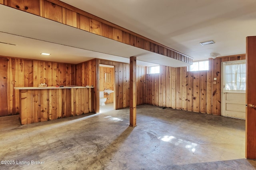
[[[146,74],[146,104],[221,115],[221,62],[242,59],[245,55],[209,59],[208,71],[160,66],[160,74]]]

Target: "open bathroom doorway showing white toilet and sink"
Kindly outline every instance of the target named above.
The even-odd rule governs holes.
[[[114,66],[100,64],[100,113],[114,110]]]

